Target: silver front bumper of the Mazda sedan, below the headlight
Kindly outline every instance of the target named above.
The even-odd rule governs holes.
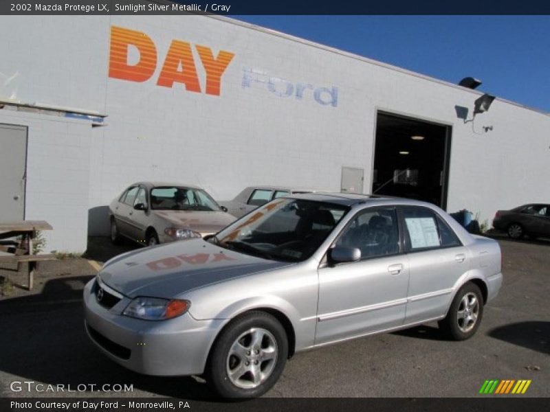
[[[98,304],[96,279],[84,288],[85,328],[92,342],[116,363],[141,374],[202,374],[224,319],[197,321],[189,313],[166,321],[144,321],[120,313],[124,297],[110,309]]]

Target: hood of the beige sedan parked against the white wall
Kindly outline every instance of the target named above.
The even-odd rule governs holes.
[[[153,210],[152,213],[175,227],[199,233],[217,233],[236,220],[225,211]]]

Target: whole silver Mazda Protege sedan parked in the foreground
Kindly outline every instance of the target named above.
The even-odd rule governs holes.
[[[470,338],[502,279],[498,244],[434,205],[299,194],[216,236],[113,258],[84,290],[85,323],[129,369],[252,397],[312,347],[434,320]]]

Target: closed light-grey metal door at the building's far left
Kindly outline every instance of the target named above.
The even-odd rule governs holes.
[[[0,220],[25,218],[27,128],[0,124]]]

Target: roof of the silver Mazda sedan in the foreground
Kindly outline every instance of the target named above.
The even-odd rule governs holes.
[[[286,197],[303,199],[306,201],[334,203],[336,205],[343,205],[343,206],[349,206],[349,207],[352,207],[354,205],[362,205],[362,204],[369,204],[371,206],[415,205],[415,206],[434,207],[432,203],[416,201],[413,199],[383,196],[383,195],[377,195],[377,194],[359,194],[359,193],[346,193],[346,192],[340,192],[340,193],[316,192],[316,193],[293,194]]]

